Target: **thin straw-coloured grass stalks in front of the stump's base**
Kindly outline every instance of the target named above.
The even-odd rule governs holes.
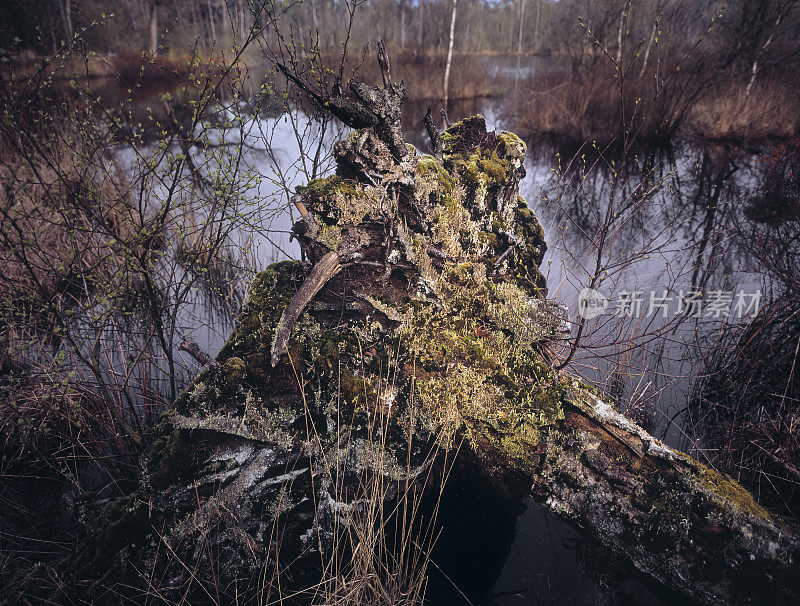
[[[391,376],[386,376],[379,378],[375,393],[391,389]],[[441,497],[452,461],[436,448],[419,464],[419,477],[414,478],[409,460],[405,481],[389,480],[389,470],[395,463],[386,455],[397,445],[387,440],[398,438],[388,437],[392,412],[382,405],[380,395],[376,398],[368,436],[378,453],[373,466],[362,472],[355,487],[347,482],[337,485],[340,473],[327,470],[337,498],[359,505],[348,508],[342,523],[334,529],[335,556],[323,566],[320,583],[309,592],[312,604],[421,606],[424,602],[430,553],[436,541],[439,500],[435,495]],[[413,408],[413,400],[409,405]],[[410,451],[410,433],[407,439],[404,447]],[[433,494],[435,500],[430,517],[421,514],[430,507],[423,505],[426,494]]]

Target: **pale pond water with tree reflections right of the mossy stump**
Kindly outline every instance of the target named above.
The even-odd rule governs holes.
[[[572,312],[575,328],[565,348],[579,327],[582,288],[592,285],[611,303],[606,314],[585,321],[571,367],[620,403],[646,404],[668,442],[702,456],[675,420],[690,397],[698,359],[734,318],[678,312],[682,297],[694,291],[706,297],[765,288],[740,246],[754,155],[684,144],[620,163],[589,150],[564,160],[550,149],[540,147],[531,159],[536,178],[524,195],[550,246],[544,262],[550,295]],[[639,293],[639,306],[618,317],[614,303],[630,293]]]

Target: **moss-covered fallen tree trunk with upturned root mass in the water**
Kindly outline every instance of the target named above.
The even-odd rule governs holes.
[[[795,603],[796,528],[553,371],[562,320],[518,194],[525,144],[476,116],[441,134],[441,161],[401,153],[397,112],[367,109],[391,128],[351,133],[337,175],[299,191],[305,262],[256,278],[140,489],[87,509],[87,570],[110,567],[114,591],[286,597],[319,578],[364,474],[396,500],[461,448],[498,491],[533,494],[698,603]]]

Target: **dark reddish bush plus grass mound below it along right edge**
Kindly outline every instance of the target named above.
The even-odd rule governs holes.
[[[758,315],[707,361],[687,418],[710,460],[765,503],[800,512],[800,141],[763,154],[740,226],[772,282]]]

